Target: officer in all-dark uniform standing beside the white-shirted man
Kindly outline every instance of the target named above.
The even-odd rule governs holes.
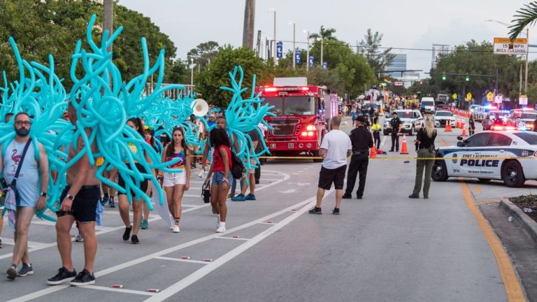
[[[364,127],[366,119],[363,116],[356,118],[356,128],[350,131],[352,143],[352,157],[350,157],[349,171],[347,175],[347,189],[343,194],[344,199],[352,198],[352,190],[355,188],[356,176],[359,175],[359,185],[356,192],[357,199],[364,195],[366,187],[367,165],[369,164],[369,148],[373,147],[371,132]]]

